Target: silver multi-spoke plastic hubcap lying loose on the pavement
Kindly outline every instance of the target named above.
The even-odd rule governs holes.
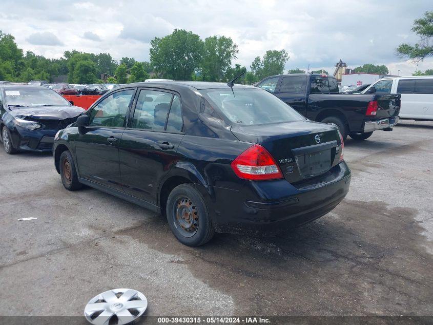
[[[147,307],[148,301],[141,292],[113,289],[94,296],[87,303],[84,316],[95,325],[123,325],[136,320]]]

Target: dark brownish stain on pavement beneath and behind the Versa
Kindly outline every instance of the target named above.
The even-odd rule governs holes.
[[[192,248],[174,238],[161,216],[119,235],[177,256],[173,267],[185,264],[230,295],[235,314],[428,315],[432,243],[415,215],[345,199],[331,215],[277,237],[217,234]]]

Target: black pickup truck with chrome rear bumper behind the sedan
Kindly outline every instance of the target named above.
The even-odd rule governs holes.
[[[369,138],[373,131],[390,131],[399,120],[398,94],[339,94],[337,81],[325,74],[282,74],[257,85],[272,92],[310,120],[334,123],[343,139]]]

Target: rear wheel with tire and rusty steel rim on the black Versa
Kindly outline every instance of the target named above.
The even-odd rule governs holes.
[[[167,221],[184,245],[200,246],[212,239],[214,227],[202,195],[191,184],[176,186],[167,199]]]

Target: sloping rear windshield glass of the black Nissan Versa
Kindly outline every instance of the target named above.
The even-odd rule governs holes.
[[[262,89],[204,89],[200,93],[231,122],[259,125],[305,120],[301,114]]]

